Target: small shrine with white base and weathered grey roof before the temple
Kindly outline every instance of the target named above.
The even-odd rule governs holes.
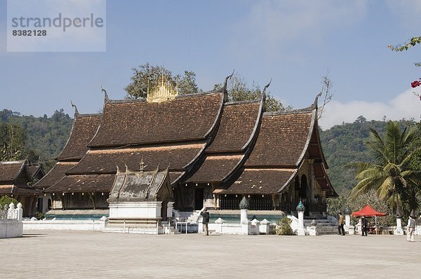
[[[145,170],[143,160],[139,171],[126,167],[121,172],[117,167],[107,200],[109,222],[106,231],[130,228],[138,233],[161,233],[161,221],[167,219],[167,212],[172,212],[173,200],[168,168],[159,170],[158,166],[156,170]]]

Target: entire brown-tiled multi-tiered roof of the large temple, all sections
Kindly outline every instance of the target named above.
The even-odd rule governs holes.
[[[213,91],[168,102],[106,98],[96,124],[74,123],[58,158],[81,160],[58,163],[44,184],[65,175],[46,191],[110,191],[117,168],[138,170],[143,159],[145,170],[168,167],[173,185],[216,182],[227,188],[218,193],[279,193],[303,160],[313,158],[317,182],[336,195],[326,177],[316,107],[264,114],[264,95],[258,101],[230,103],[224,103],[224,96]],[[83,130],[91,136],[72,139]]]

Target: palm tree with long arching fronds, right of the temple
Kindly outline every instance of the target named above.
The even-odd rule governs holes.
[[[389,201],[392,212],[403,213],[403,193],[410,186],[417,186],[419,173],[408,168],[408,163],[416,150],[409,145],[414,139],[415,129],[403,128],[399,123],[389,121],[386,124],[385,139],[376,130],[370,128],[371,139],[367,142],[373,154],[373,163],[354,162],[347,166],[356,169],[358,184],[349,192],[349,196],[358,197],[375,189],[380,198]],[[419,184],[418,184],[419,185]]]

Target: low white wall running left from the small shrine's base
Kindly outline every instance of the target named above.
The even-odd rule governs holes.
[[[24,230],[102,231],[105,220],[34,220],[23,221]]]

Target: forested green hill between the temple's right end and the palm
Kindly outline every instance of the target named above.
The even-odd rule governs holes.
[[[387,121],[366,121],[359,116],[354,123],[335,125],[320,133],[323,154],[328,163],[330,182],[340,196],[347,195],[355,186],[355,173],[344,168],[352,161],[370,162],[372,156],[366,142],[370,138],[370,128],[383,136]],[[416,125],[414,121],[399,121],[401,127]]]

